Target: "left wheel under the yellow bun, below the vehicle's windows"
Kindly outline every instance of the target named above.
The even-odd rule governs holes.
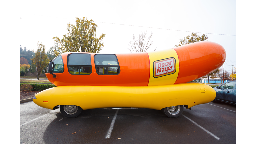
[[[69,118],[75,118],[79,116],[83,109],[75,105],[60,105],[60,112],[63,116]]]

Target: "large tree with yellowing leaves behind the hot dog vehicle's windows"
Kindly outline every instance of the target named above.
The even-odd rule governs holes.
[[[63,39],[54,37],[53,40],[59,44],[62,52],[91,52],[99,53],[103,47],[103,38],[105,34],[96,37],[97,24],[93,20],[76,18],[76,24],[68,23],[68,33],[63,35]],[[55,55],[58,52],[55,51]]]

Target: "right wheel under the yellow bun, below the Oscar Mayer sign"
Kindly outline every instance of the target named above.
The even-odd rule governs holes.
[[[183,105],[171,106],[164,108],[164,113],[169,118],[175,118],[182,114],[183,112]]]

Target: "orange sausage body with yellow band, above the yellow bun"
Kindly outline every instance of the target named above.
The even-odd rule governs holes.
[[[46,73],[47,78],[56,86],[91,85],[91,86],[153,86],[186,83],[217,70],[226,58],[225,49],[214,42],[196,42],[167,50],[144,53],[116,54],[120,73],[118,75],[98,75],[94,55],[91,55],[92,73],[89,75],[71,75],[68,72],[67,56],[62,53],[64,72]],[[154,62],[166,59],[175,61],[175,72],[156,77]]]

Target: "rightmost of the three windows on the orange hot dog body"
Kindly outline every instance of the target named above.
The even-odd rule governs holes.
[[[99,75],[118,75],[120,73],[119,63],[114,54],[96,54],[94,63]]]

